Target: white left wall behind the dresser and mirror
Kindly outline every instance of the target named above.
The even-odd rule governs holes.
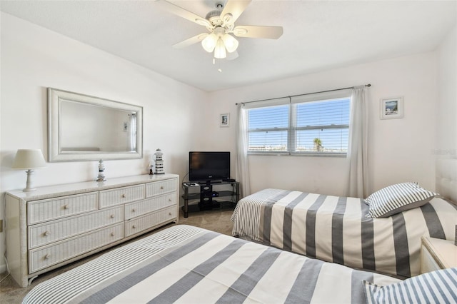
[[[187,173],[187,153],[200,141],[191,130],[205,129],[204,113],[192,110],[208,93],[4,13],[0,59],[0,218],[4,192],[25,187],[26,173],[11,170],[16,150],[41,148],[46,157],[47,87],[144,107],[144,158],[106,161],[107,178],[147,173],[156,148],[166,172]],[[48,163],[36,171],[36,186],[94,180],[97,170],[96,161]],[[1,257],[4,251],[0,233]],[[0,258],[0,272],[4,265]]]

